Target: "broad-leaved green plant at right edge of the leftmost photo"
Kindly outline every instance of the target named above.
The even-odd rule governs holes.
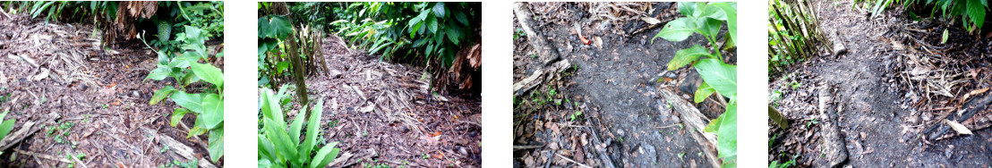
[[[156,51],[159,53],[158,67],[145,78],[164,80],[172,77],[182,87],[166,86],[155,91],[149,104],[156,105],[169,98],[182,107],[173,112],[171,126],[177,126],[186,114],[194,114],[196,121],[186,137],[208,132],[207,149],[210,159],[217,161],[224,151],[224,73],[209,63],[199,63],[199,60],[210,60],[211,57],[204,45],[206,32],[190,26],[185,28],[186,31],[181,33],[184,38],[178,38],[178,41],[184,42],[181,46],[184,50],[175,56],[163,50]],[[223,51],[220,51],[215,56],[222,55]],[[197,82],[210,87],[200,93],[192,93],[192,90],[186,89],[187,85]]]

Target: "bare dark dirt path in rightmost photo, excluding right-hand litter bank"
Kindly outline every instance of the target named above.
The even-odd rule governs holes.
[[[850,2],[818,3],[820,30],[837,32],[840,42],[849,49],[839,57],[820,55],[798,65],[787,77],[771,83],[773,97],[782,92],[780,109],[793,122],[789,130],[777,127],[770,133],[774,145],[772,158],[780,162],[799,159],[800,165],[821,165],[819,151],[821,130],[817,128],[818,85],[833,84],[839,111],[841,137],[846,143],[848,164],[854,167],[987,167],[992,156],[992,132],[956,136],[926,144],[918,136],[923,126],[918,110],[913,108],[905,83],[898,78],[900,54],[886,42],[895,30],[900,14],[888,10],[882,17],[869,19],[861,11],[852,11]],[[831,36],[832,37],[832,36]],[[836,41],[835,41],[836,42]],[[912,46],[911,46],[912,47]],[[774,98],[773,102],[776,101]],[[772,145],[772,144],[770,144]],[[797,156],[799,155],[799,156]]]

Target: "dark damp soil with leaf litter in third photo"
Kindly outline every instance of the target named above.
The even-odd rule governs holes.
[[[647,24],[641,20],[594,20],[585,11],[588,6],[529,4],[539,24],[535,31],[558,47],[574,67],[562,74],[562,79],[514,98],[514,165],[576,165],[566,160],[570,159],[603,167],[603,157],[597,151],[605,151],[622,167],[709,167],[702,146],[687,132],[692,130],[682,126],[677,113],[655,94],[657,89],[674,87],[663,88],[664,84],[652,79],[666,70],[676,50],[705,44],[703,37],[651,42],[660,27],[624,36],[623,32],[638,27],[631,26],[633,23]],[[661,15],[663,22],[679,17],[674,3],[650,6],[654,9],[647,13]],[[514,27],[520,28],[516,17]],[[573,33],[572,24],[576,23],[583,36],[600,38],[602,46],[581,43]],[[527,38],[531,37],[514,42],[515,82],[541,64]],[[688,72],[684,68],[677,71],[680,75]],[[723,111],[698,107],[711,119]],[[582,114],[572,119],[578,112]]]

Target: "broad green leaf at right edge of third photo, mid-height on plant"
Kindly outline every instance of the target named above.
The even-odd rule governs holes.
[[[737,96],[737,66],[723,63],[717,58],[706,58],[695,62],[695,71],[702,81],[713,87],[721,95],[733,99]]]

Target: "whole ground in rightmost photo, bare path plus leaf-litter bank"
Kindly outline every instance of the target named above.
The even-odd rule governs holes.
[[[988,167],[992,131],[982,127],[992,116],[987,109],[962,122],[974,134],[951,130],[928,140],[922,132],[937,125],[943,115],[968,108],[964,103],[988,96],[972,91],[990,86],[989,39],[962,36],[967,33],[959,25],[908,20],[902,8],[870,18],[867,10],[852,10],[851,5],[848,1],[814,5],[820,31],[839,33],[832,39],[845,44],[848,53],[823,52],[772,77],[770,101],[791,126],[782,130],[770,125],[770,161],[792,160],[800,167],[824,164],[817,87],[832,83],[833,99],[843,108],[838,126],[849,155],[847,165]],[[957,36],[941,44],[943,29]],[[948,96],[941,94],[944,90]]]

